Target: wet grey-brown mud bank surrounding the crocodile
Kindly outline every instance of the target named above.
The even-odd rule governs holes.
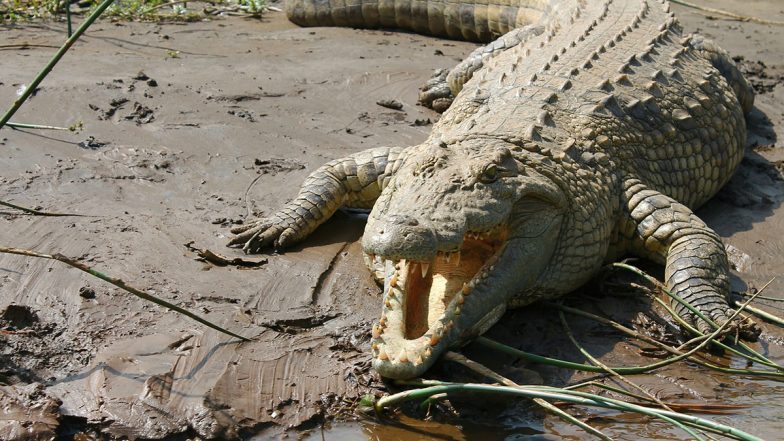
[[[710,6],[784,18],[774,0]],[[784,273],[784,27],[675,9],[687,31],[742,57],[758,93],[747,157],[699,214],[732,247],[734,289],[759,288]],[[5,26],[2,34],[7,44],[28,44],[0,49],[0,103],[11,103],[51,55],[33,45],[60,44],[65,26]],[[1,200],[87,216],[3,209],[0,243],[80,258],[254,340],[239,343],[57,262],[0,255],[0,438],[81,431],[263,438],[297,429],[315,439],[582,439],[523,401],[458,399],[432,409],[428,421],[353,421],[358,397],[388,391],[369,369],[369,324],[380,305],[360,255],[361,215],[339,213],[301,247],[262,256],[267,262],[250,268],[200,255],[245,259],[223,247],[228,228],[292,198],[322,163],[424,140],[438,116],[416,105],[418,86],[475,47],[380,30],[301,29],[280,13],[261,21],[95,24],[14,118],[81,121],[84,130],[0,131]],[[767,295],[781,297],[782,288],[777,279]],[[569,301],[640,327],[657,316],[639,293],[601,296],[589,286]],[[761,304],[781,313],[779,304]],[[647,348],[602,326],[570,323],[608,364],[653,360]],[[763,328],[759,347],[781,362],[784,333]],[[507,314],[490,335],[584,361],[544,307]],[[473,346],[466,353],[520,381],[585,377]],[[470,378],[449,363],[433,375]],[[752,405],[715,418],[763,438],[784,430],[780,384],[689,365],[635,380],[662,399]],[[570,410],[617,439],[681,437],[647,419]]]

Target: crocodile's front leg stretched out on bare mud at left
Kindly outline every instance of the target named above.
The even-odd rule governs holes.
[[[340,207],[370,208],[402,163],[400,147],[364,150],[330,161],[311,173],[297,197],[272,216],[232,228],[228,246],[256,253],[288,247],[313,232]]]

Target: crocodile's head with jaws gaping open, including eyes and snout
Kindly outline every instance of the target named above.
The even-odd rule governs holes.
[[[550,261],[566,202],[550,179],[496,139],[407,153],[368,218],[362,244],[383,267],[373,367],[424,373],[492,326]]]

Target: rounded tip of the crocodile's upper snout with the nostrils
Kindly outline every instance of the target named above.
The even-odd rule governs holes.
[[[435,231],[411,216],[392,215],[368,224],[363,236],[365,252],[388,259],[429,260],[436,254]]]

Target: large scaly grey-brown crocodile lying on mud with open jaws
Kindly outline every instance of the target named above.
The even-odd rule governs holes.
[[[491,2],[493,0],[490,0]],[[729,268],[693,212],[744,155],[753,92],[723,49],[683,35],[660,0],[291,0],[302,25],[496,40],[434,84],[426,141],[336,159],[230,246],[284,249],[341,207],[371,209],[364,260],[383,285],[373,367],[424,373],[508,308],[569,293],[608,261],[664,265],[673,308],[725,324]],[[747,338],[753,323],[727,324]]]

